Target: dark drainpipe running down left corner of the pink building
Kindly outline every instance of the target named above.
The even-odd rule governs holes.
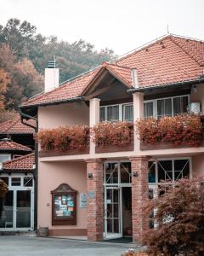
[[[37,118],[31,116],[30,114],[24,113],[21,108],[19,108],[20,111],[20,120],[23,125],[27,125],[35,130],[37,133],[38,131],[38,120]],[[36,126],[30,125],[26,123],[23,119],[34,119],[36,121]],[[34,230],[37,230],[37,188],[38,188],[38,143],[37,140],[35,140],[35,165],[36,168],[33,173],[34,181],[35,181],[35,187],[34,187]]]

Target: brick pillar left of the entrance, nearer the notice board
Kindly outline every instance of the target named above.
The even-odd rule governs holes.
[[[103,240],[103,162],[99,159],[87,160],[88,189],[88,240]],[[88,175],[93,177],[88,177]]]

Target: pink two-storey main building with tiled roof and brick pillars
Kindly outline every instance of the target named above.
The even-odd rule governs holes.
[[[42,94],[20,106],[22,118],[37,120],[47,136],[58,127],[93,128],[106,121],[131,127],[122,146],[101,146],[92,132],[86,148],[57,150],[39,143],[37,227],[48,227],[49,236],[141,241],[150,228],[144,202],[157,196],[163,181],[173,185],[181,177],[203,176],[204,144],[202,135],[196,145],[144,143],[131,124],[203,113],[203,69],[203,42],[167,35],[59,87],[45,84]]]

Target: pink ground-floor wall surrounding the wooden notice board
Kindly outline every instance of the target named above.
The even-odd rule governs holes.
[[[49,229],[86,229],[87,209],[79,207],[80,193],[87,192],[86,163],[82,162],[39,162],[38,173],[38,227]],[[61,183],[68,183],[77,190],[77,225],[52,226],[51,191]]]

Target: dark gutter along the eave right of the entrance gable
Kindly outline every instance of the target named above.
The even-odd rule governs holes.
[[[157,85],[152,85],[152,86],[147,86],[147,87],[139,87],[139,88],[131,88],[127,90],[127,93],[133,93],[133,92],[144,92],[146,90],[156,90],[156,89],[165,89],[169,88],[171,86],[183,86],[187,84],[201,84],[204,83],[204,78],[201,79],[195,79],[195,80],[189,80],[189,81],[183,81],[183,82],[177,82],[177,83],[171,83],[171,84],[157,84]]]

